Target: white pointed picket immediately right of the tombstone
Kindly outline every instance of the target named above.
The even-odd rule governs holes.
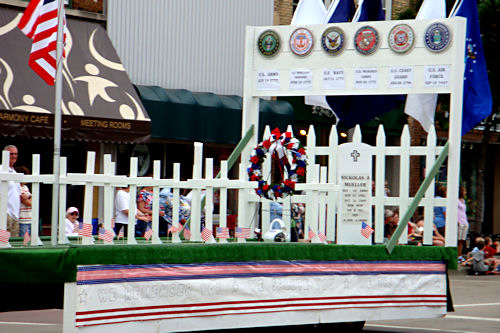
[[[375,184],[382,183],[385,186],[385,131],[384,126],[379,125],[377,131],[377,147],[375,148]],[[373,181],[373,179],[372,179]],[[375,186],[375,243],[384,242],[384,188]]]

